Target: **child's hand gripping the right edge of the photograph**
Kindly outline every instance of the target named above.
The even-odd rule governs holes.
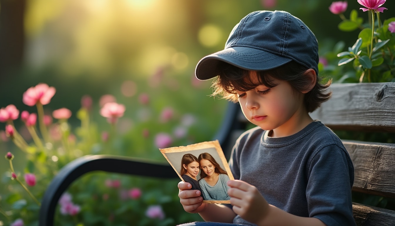
[[[241,218],[259,224],[267,215],[269,204],[261,193],[242,180],[229,180],[228,194],[233,211]]]

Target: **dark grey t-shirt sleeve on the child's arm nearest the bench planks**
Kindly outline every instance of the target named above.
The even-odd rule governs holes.
[[[318,148],[307,169],[310,217],[320,219],[327,226],[355,225],[351,201],[354,168],[346,150],[335,144]]]

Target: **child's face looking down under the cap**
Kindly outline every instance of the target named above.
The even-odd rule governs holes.
[[[255,71],[250,71],[250,76],[254,83],[258,82]],[[303,94],[293,91],[286,81],[273,79],[273,82],[278,85],[273,88],[258,85],[246,92],[238,91],[239,103],[248,121],[264,130],[273,130],[273,137],[289,136],[295,133],[300,120],[308,116]]]

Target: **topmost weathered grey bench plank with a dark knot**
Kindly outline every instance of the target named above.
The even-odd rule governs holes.
[[[332,129],[395,132],[395,82],[332,84],[331,99],[310,115]]]

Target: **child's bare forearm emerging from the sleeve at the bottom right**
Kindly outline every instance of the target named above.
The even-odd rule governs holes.
[[[269,205],[267,213],[258,222],[260,226],[293,225],[293,226],[326,226],[321,220],[314,217],[298,217],[283,211],[273,205]]]

